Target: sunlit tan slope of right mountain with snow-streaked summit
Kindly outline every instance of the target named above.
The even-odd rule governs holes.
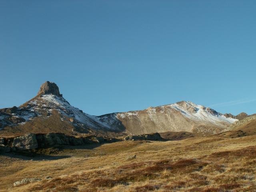
[[[133,134],[168,131],[215,134],[236,121],[211,108],[186,101],[113,115]]]

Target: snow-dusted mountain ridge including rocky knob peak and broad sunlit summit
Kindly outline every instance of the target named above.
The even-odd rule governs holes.
[[[20,107],[0,110],[0,134],[63,132],[66,134],[148,134],[200,132],[215,134],[237,121],[235,116],[181,101],[145,110],[92,116],[65,100],[55,83],[45,82],[38,95]]]

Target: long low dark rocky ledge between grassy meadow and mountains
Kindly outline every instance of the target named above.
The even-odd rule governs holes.
[[[103,144],[123,140],[163,140],[158,133],[128,136],[125,138],[103,138],[97,136],[74,137],[63,133],[26,134],[14,138],[0,138],[0,152],[30,150],[60,145]]]

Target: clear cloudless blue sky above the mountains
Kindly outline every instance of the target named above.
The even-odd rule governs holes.
[[[92,115],[256,113],[256,0],[0,0],[0,108],[46,80]]]

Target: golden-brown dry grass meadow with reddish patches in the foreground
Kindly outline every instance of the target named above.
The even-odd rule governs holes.
[[[256,191],[256,135],[124,141],[34,154],[0,156],[0,192]],[[23,178],[42,180],[13,187]]]

